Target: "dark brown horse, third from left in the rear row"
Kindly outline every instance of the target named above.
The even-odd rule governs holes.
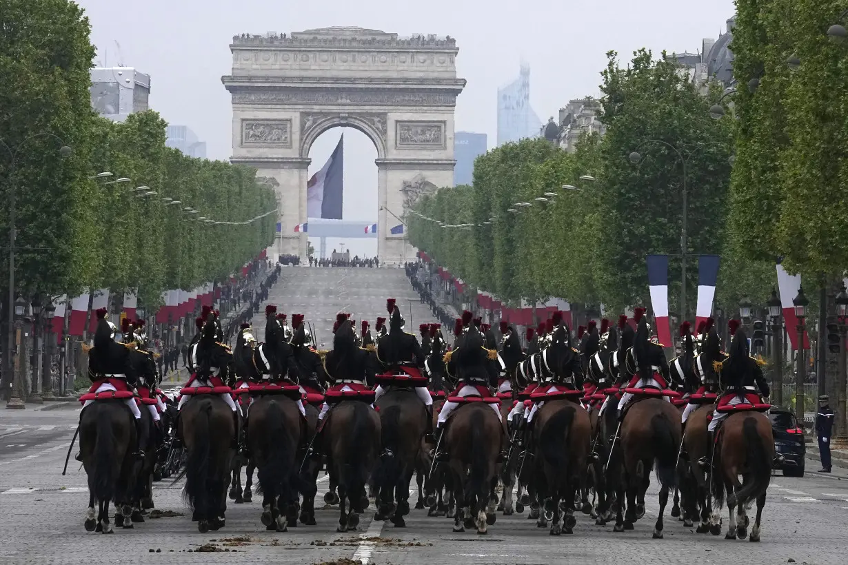
[[[256,464],[266,529],[285,532],[298,525],[298,444],[305,423],[287,396],[261,395],[248,410],[248,447]]]

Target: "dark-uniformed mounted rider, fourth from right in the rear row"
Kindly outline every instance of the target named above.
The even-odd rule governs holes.
[[[448,396],[481,396],[491,397],[492,390],[497,385],[497,375],[493,375],[489,368],[489,361],[497,355],[494,350],[486,349],[485,338],[477,331],[477,326],[471,324],[465,326],[462,319],[456,319],[454,334],[457,336],[454,349],[445,354],[446,360],[453,362],[456,376],[460,379],[460,385]],[[493,378],[494,376],[494,378]],[[436,424],[436,443],[441,445],[441,437],[444,435],[445,423],[451,413],[459,404],[456,402],[445,402],[442,411],[438,414]],[[499,405],[489,404],[501,421]],[[505,453],[502,453],[505,455]],[[447,461],[448,454],[438,451],[438,461]]]

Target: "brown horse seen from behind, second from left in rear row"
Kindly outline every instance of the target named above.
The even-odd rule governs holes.
[[[225,524],[226,485],[236,431],[232,410],[217,395],[198,395],[180,410],[179,435],[188,451],[184,496],[198,521],[198,530],[220,529]]]

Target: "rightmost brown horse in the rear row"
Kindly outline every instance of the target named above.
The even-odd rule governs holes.
[[[730,523],[726,540],[745,539],[749,523],[745,507],[753,500],[756,500],[756,518],[750,540],[760,540],[762,507],[766,505],[766,490],[772,479],[773,458],[774,437],[767,415],[753,411],[731,413],[719,430],[712,476],[717,508],[722,507],[727,492]],[[738,508],[736,516],[734,507]],[[718,511],[713,513],[717,515]]]

